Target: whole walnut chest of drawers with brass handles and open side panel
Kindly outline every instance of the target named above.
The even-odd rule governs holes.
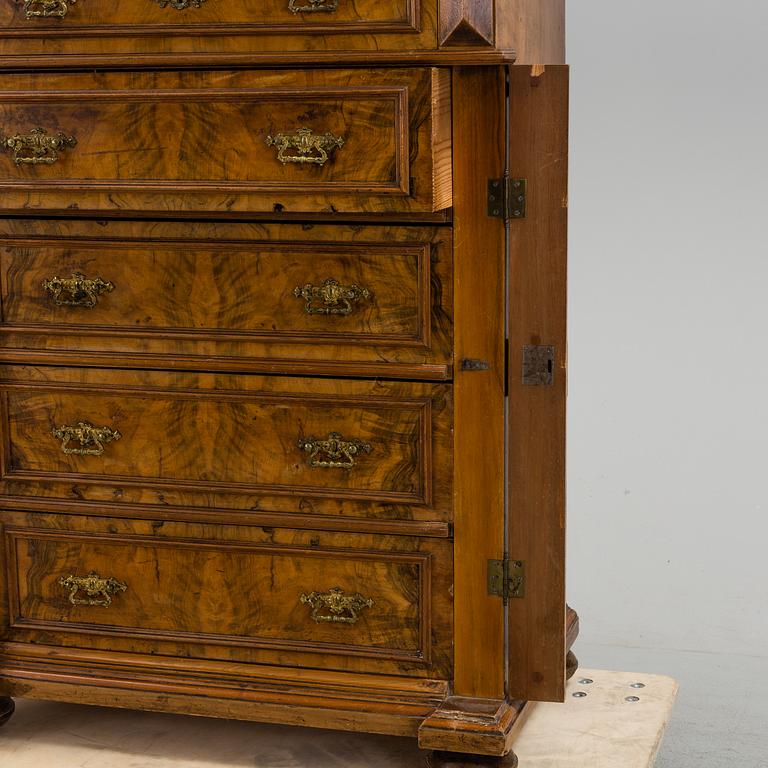
[[[0,9],[13,696],[511,765],[564,695],[558,0]]]

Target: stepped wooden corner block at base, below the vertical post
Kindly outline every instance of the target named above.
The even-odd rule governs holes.
[[[533,706],[525,701],[450,696],[421,724],[419,746],[456,753],[439,757],[451,765],[466,761],[467,755],[504,757],[512,751]]]

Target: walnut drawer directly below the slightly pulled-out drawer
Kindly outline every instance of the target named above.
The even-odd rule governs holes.
[[[386,362],[445,378],[451,256],[447,228],[0,222],[0,330],[6,348],[144,365]]]

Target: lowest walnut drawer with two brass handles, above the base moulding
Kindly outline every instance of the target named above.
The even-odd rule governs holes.
[[[447,541],[389,538],[385,551],[364,536],[0,515],[6,638],[422,675],[450,663]]]

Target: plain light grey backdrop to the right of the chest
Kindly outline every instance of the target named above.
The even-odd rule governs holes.
[[[768,3],[570,0],[569,601],[681,683],[660,768],[768,766]]]

